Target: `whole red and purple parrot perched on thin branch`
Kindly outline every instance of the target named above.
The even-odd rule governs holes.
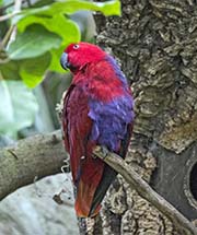
[[[95,216],[117,173],[92,153],[102,145],[125,157],[134,99],[114,58],[95,45],[69,45],[60,63],[73,73],[63,99],[62,129],[76,186],[74,208],[78,216]]]

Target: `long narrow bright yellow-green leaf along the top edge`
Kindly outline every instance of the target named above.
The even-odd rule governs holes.
[[[13,23],[19,22],[20,20],[28,15],[53,16],[55,14],[72,14],[79,10],[101,11],[106,16],[120,15],[120,2],[119,0],[112,0],[106,2],[65,0],[65,1],[54,2],[50,5],[44,5],[42,8],[23,10],[13,19]]]

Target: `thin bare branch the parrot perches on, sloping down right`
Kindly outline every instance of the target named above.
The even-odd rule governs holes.
[[[95,149],[94,154],[118,172],[131,188],[169,218],[182,232],[181,234],[197,235],[197,228],[171,203],[158,195],[120,156],[112,152],[104,156],[101,146]]]

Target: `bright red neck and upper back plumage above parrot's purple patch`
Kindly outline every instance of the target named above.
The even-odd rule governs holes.
[[[114,69],[108,60],[102,60],[97,63],[89,63],[85,68],[79,70],[74,75],[72,83],[82,87],[86,94],[101,102],[111,102],[118,96],[130,93],[125,77],[120,69]]]

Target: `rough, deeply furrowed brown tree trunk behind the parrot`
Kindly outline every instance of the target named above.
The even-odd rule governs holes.
[[[123,0],[121,17],[96,15],[97,44],[113,54],[136,101],[126,158],[189,220],[197,219],[197,3]],[[118,177],[81,234],[181,234]]]

